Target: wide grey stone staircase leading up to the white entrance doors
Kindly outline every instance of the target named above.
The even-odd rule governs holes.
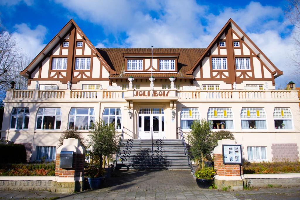
[[[190,170],[181,140],[123,139],[115,169]]]

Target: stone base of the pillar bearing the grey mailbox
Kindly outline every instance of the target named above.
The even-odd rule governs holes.
[[[56,193],[73,193],[73,192],[81,192],[83,187],[82,181],[74,181],[74,182],[56,182],[52,181],[51,192]]]

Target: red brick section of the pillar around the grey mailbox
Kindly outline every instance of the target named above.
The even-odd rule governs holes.
[[[60,154],[56,154],[55,160],[55,176],[62,178],[81,177],[84,173],[85,154],[73,154],[73,168],[62,169],[60,165]]]

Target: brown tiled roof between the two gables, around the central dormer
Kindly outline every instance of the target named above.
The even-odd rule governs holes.
[[[110,78],[149,78],[149,73],[124,73],[125,61],[123,54],[127,53],[151,53],[151,48],[103,48],[97,49],[105,61],[116,70],[116,75],[110,75]],[[193,75],[186,75],[195,62],[198,60],[202,52],[202,48],[154,48],[153,54],[179,54],[178,58],[178,73],[155,73],[155,78],[193,78]]]

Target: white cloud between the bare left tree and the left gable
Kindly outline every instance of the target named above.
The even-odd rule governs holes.
[[[36,28],[31,29],[27,24],[22,23],[16,24],[14,28],[15,31],[11,35],[16,39],[20,50],[27,54],[29,58],[35,58],[46,46],[44,39],[47,29],[43,25],[38,25]]]

